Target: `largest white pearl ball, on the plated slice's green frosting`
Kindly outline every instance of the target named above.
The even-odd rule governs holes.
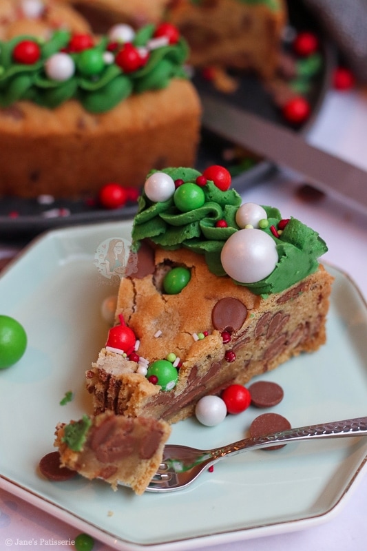
[[[266,278],[279,259],[271,236],[261,229],[240,229],[224,243],[220,260],[233,280],[253,283]]]

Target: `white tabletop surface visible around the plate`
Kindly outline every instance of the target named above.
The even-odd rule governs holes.
[[[329,92],[317,123],[308,135],[312,145],[337,154],[367,170],[367,94],[363,91]],[[355,280],[367,300],[366,215],[324,198],[305,202],[297,196],[299,182],[280,177],[244,191],[244,201],[276,206],[287,218],[295,216],[319,231],[328,243],[325,260]],[[367,189],[366,189],[367,194]],[[367,336],[367,335],[366,335]],[[367,412],[366,412],[367,413]],[[367,540],[367,475],[348,493],[333,518],[306,530],[207,547],[208,551],[365,551]],[[244,495],[246,501],[246,495]],[[144,519],[141,519],[144,522]],[[40,512],[18,497],[0,491],[0,550],[67,550],[78,530]],[[65,544],[56,544],[65,540]],[[28,541],[28,543],[25,543]],[[35,543],[35,542],[38,543]],[[94,551],[109,551],[96,541]],[[198,545],[197,551],[199,551]]]

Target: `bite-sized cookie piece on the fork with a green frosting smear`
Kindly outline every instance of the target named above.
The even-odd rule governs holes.
[[[131,486],[141,495],[158,470],[170,433],[163,421],[108,412],[60,424],[54,445],[63,467],[87,479],[101,478],[114,490],[119,483]]]

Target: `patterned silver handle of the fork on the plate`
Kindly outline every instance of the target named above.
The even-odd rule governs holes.
[[[269,448],[290,441],[356,436],[367,436],[367,417],[289,428],[270,435],[245,438],[228,446],[211,450],[210,454],[211,459],[221,459],[227,455],[237,455],[256,448]]]

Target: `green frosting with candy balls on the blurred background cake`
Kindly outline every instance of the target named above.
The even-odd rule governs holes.
[[[187,79],[188,47],[178,33],[157,37],[156,25],[138,31],[118,25],[103,37],[57,30],[49,41],[19,36],[0,41],[0,107],[21,100],[55,108],[72,98],[87,111],[112,110],[131,94]],[[118,30],[117,30],[118,31]]]

